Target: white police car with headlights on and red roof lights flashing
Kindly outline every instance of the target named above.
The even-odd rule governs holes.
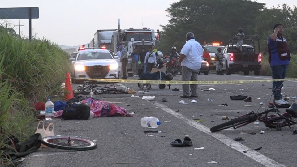
[[[118,56],[112,56],[106,49],[80,48],[72,63],[72,82],[84,78],[118,79]]]

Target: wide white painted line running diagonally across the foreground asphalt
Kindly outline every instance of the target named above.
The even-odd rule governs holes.
[[[185,118],[182,114],[175,112],[174,110],[166,107],[165,105],[162,105],[160,103],[153,103],[154,105],[156,105],[157,107],[159,107],[160,109],[162,109],[163,111],[166,111],[167,113],[170,113],[171,115],[175,116],[176,118],[179,118],[181,120],[183,120],[184,122],[186,122],[187,124],[191,125],[192,127],[206,133],[207,135],[210,135],[212,137],[214,137],[215,139],[221,141],[223,144],[235,149],[236,151],[242,153],[245,156],[248,156],[250,158],[252,158],[253,160],[255,160],[256,162],[259,162],[260,164],[267,166],[267,167],[285,167],[285,165],[282,165],[276,161],[274,161],[273,159],[270,159],[268,157],[266,157],[263,154],[260,154],[257,151],[248,151],[247,153],[243,153],[243,151],[249,150],[251,148],[238,143],[236,141],[234,141],[233,139],[230,139],[229,137],[220,134],[220,133],[212,133],[210,132],[210,129],[198,122],[192,121],[188,118]]]

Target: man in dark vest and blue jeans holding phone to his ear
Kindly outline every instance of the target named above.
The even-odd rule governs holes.
[[[268,37],[268,62],[272,70],[272,79],[285,79],[286,68],[290,64],[290,49],[287,40],[282,36],[284,27],[282,24],[275,24],[273,34]],[[283,81],[273,82],[272,88],[278,88]],[[273,92],[276,105],[289,102],[282,99],[281,92]]]

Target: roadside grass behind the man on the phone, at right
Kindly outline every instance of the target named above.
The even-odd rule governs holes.
[[[297,69],[297,54],[291,54],[291,60],[286,71],[286,77],[297,78],[296,69]],[[272,71],[270,68],[270,64],[268,62],[268,55],[265,55],[263,57],[260,75],[272,76]]]

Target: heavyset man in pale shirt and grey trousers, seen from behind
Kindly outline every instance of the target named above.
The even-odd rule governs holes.
[[[202,61],[202,46],[195,41],[194,34],[188,32],[186,35],[187,43],[183,45],[180,51],[180,58],[178,66],[182,67],[182,80],[183,81],[197,81],[198,73],[201,68]],[[191,96],[189,85],[183,84],[183,96],[181,98],[198,97],[198,85],[191,85]]]

